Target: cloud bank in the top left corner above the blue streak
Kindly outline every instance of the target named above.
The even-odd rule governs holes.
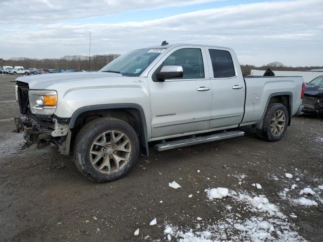
[[[129,11],[195,5],[225,0],[5,0],[0,24],[55,23]]]

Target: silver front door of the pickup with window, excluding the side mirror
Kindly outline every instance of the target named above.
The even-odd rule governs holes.
[[[163,66],[182,66],[183,77],[158,81]],[[210,126],[211,81],[205,49],[178,46],[149,72],[152,138],[207,130]]]

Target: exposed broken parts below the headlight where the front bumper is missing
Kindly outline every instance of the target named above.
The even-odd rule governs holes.
[[[39,129],[37,123],[31,118],[15,117],[15,133],[23,133],[25,144],[20,149],[25,149],[36,144],[37,149],[42,149],[50,144],[55,144],[61,154],[69,154],[71,131],[68,124],[59,124],[55,121],[55,129],[51,132],[44,132]]]

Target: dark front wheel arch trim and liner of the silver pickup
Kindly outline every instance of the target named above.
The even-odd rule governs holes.
[[[101,116],[119,118],[131,125],[139,135],[140,154],[149,155],[146,117],[139,104],[112,103],[81,107],[72,114],[69,128],[77,130],[84,122],[87,123],[89,120]]]

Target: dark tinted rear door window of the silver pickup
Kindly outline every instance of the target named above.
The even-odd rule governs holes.
[[[209,49],[214,78],[234,77],[235,71],[229,51]]]

